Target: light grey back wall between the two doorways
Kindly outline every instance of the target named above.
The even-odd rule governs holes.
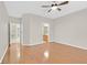
[[[24,14],[22,22],[23,22],[23,43],[30,45],[42,43],[43,41],[42,28],[44,25],[43,23],[50,23],[50,25],[52,26],[52,20],[34,14]],[[51,32],[51,37],[52,35],[53,34]]]

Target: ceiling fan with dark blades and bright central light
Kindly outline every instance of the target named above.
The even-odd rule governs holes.
[[[59,6],[64,6],[67,4],[68,1],[64,1],[61,3],[57,3],[56,1],[53,1],[54,3],[52,3],[51,6],[42,6],[42,8],[50,8],[50,10],[47,12],[51,12],[52,10],[57,10],[61,11],[62,9],[59,8]]]

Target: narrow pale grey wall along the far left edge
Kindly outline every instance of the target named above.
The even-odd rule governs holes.
[[[8,12],[0,1],[0,63],[8,46]]]

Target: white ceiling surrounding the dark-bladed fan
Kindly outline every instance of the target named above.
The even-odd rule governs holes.
[[[52,1],[4,1],[10,17],[21,18],[24,13],[33,13],[36,15],[56,19],[72,12],[76,12],[87,8],[87,1],[69,1],[68,4],[59,7],[62,11],[51,11],[50,8],[41,8],[43,4],[51,4]]]

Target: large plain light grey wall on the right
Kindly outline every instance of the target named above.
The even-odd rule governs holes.
[[[55,42],[87,48],[87,9],[57,18],[54,24]]]

